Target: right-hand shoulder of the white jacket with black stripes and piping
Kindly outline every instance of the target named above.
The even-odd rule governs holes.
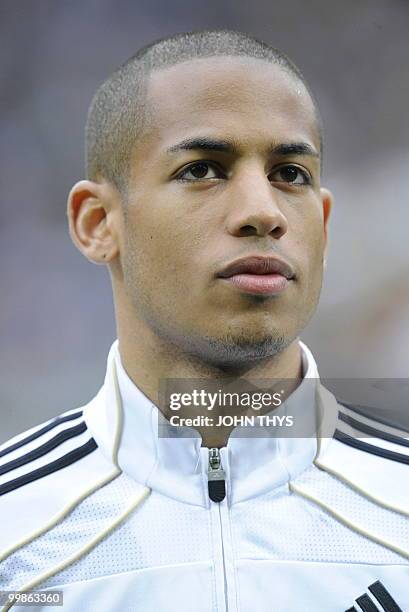
[[[407,432],[381,422],[370,407],[339,403],[327,389],[321,399],[317,455],[290,490],[319,506],[323,521],[331,517],[408,559]]]

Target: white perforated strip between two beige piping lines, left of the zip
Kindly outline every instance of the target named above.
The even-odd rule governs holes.
[[[1,564],[2,588],[18,589],[80,550],[108,528],[142,491],[141,485],[121,474],[90,495],[56,527]]]

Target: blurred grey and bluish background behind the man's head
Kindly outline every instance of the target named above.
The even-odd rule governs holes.
[[[2,0],[0,442],[86,403],[116,337],[108,272],[65,213],[93,93],[154,39],[224,27],[287,53],[323,115],[335,207],[302,334],[321,376],[409,378],[407,0]]]

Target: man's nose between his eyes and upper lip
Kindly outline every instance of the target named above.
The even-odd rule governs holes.
[[[271,235],[281,238],[288,221],[279,207],[280,192],[272,187],[264,170],[252,170],[237,178],[230,192],[227,230],[232,236]]]

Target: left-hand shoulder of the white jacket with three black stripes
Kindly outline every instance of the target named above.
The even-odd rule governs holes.
[[[0,446],[0,558],[16,542],[60,520],[117,471],[79,407]]]

